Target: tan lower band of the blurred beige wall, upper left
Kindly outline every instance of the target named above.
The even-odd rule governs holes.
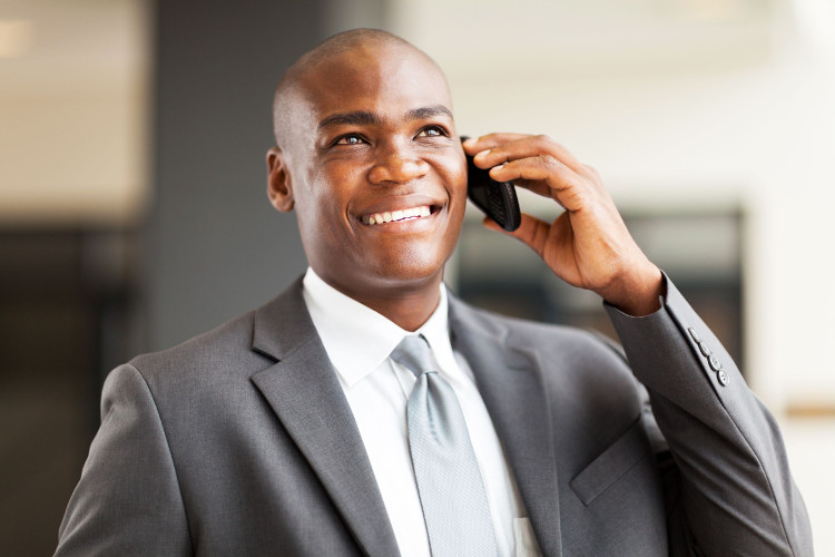
[[[146,193],[136,94],[0,100],[0,218],[132,222]]]

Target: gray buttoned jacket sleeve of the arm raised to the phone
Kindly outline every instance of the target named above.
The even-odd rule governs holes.
[[[631,317],[607,304],[680,478],[670,547],[696,555],[813,555],[806,509],[774,418],[721,343],[666,278],[662,307]],[[675,527],[674,527],[675,528]]]

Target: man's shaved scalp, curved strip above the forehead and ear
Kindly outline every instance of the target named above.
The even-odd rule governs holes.
[[[293,129],[292,114],[295,105],[303,101],[305,97],[304,78],[326,62],[352,52],[364,52],[374,56],[387,49],[401,49],[404,53],[419,56],[438,69],[443,78],[440,67],[425,52],[415,48],[410,42],[380,29],[352,29],[344,31],[320,42],[312,50],[302,55],[282,77],[276,87],[273,98],[273,131],[276,145],[283,149],[289,146],[289,138],[296,130]],[[445,80],[445,78],[443,78]]]

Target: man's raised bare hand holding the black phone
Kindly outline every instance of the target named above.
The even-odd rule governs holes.
[[[626,313],[658,310],[661,272],[632,240],[597,170],[547,136],[490,134],[463,146],[493,179],[513,182],[566,209],[552,223],[522,214],[512,233],[488,218],[485,226],[521,240],[557,276]]]

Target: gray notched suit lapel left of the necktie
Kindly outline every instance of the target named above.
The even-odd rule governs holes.
[[[302,297],[301,280],[255,313],[253,350],[277,363],[253,382],[369,555],[399,555],[354,416]]]

